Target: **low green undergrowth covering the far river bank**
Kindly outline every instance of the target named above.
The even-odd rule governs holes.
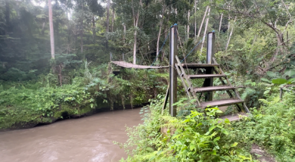
[[[167,87],[167,74],[154,70],[126,69],[114,76],[109,65],[79,67],[70,72],[76,77],[62,86],[57,86],[50,74],[39,76],[35,82],[2,82],[0,129],[51,123],[63,118],[63,114],[91,114],[99,108],[112,110],[114,105],[140,105]]]

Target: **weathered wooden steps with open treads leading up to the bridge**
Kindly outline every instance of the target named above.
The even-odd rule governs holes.
[[[236,105],[236,108],[239,111],[246,111],[250,113],[249,109],[245,105],[244,101],[240,98],[236,87],[234,87],[231,82],[228,80],[227,76],[224,74],[220,65],[217,64],[216,60],[213,58],[214,64],[195,64],[195,63],[180,63],[179,58],[176,56],[177,63],[175,64],[177,73],[180,77],[180,80],[185,88],[187,96],[189,99],[196,99],[197,105],[199,108],[207,107],[218,107],[218,106],[228,106]],[[213,70],[215,74],[197,74],[197,75],[187,75],[185,73],[186,69],[205,69]],[[218,78],[223,85],[220,86],[206,86],[206,87],[193,87],[191,83],[192,79],[207,79],[207,78]],[[200,102],[200,98],[203,93],[214,92],[214,91],[226,91],[230,96],[229,99],[215,100],[215,101],[205,101]],[[232,93],[232,91],[234,93]],[[199,98],[197,93],[200,93]],[[235,95],[234,95],[235,94]],[[243,109],[240,107],[242,105]]]

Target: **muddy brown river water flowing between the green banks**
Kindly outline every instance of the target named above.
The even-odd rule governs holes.
[[[118,162],[127,155],[113,141],[127,140],[125,125],[143,123],[140,109],[0,132],[0,162]]]

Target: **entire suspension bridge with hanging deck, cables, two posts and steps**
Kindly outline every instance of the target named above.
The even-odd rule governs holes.
[[[216,62],[214,58],[215,53],[215,32],[207,33],[207,60],[206,64],[198,63],[182,63],[186,57],[191,54],[194,49],[199,45],[200,41],[181,61],[177,56],[177,24],[170,28],[170,41],[169,41],[169,65],[167,66],[150,66],[147,65],[136,65],[128,63],[125,61],[113,61],[111,55],[111,62],[117,66],[123,68],[138,68],[138,69],[160,69],[169,68],[169,85],[166,93],[165,103],[163,109],[168,105],[169,99],[169,112],[172,116],[176,116],[177,106],[174,105],[177,102],[177,76],[180,78],[182,85],[185,89],[186,95],[189,100],[196,101],[198,108],[207,107],[221,107],[235,105],[236,109],[239,111],[235,114],[226,115],[219,118],[228,118],[230,121],[238,120],[240,115],[247,115],[250,113],[245,102],[241,99],[237,87],[233,86],[228,79],[228,76],[222,71],[220,65]],[[168,36],[169,36],[168,35]],[[167,37],[168,37],[167,36]],[[162,50],[167,37],[160,49]],[[160,52],[159,51],[159,52]],[[159,53],[156,55],[158,57]],[[156,59],[155,58],[155,59]],[[184,70],[186,69],[186,70]],[[200,70],[203,69],[203,73]],[[190,74],[189,72],[198,71],[197,74]],[[214,86],[213,79],[219,79],[222,85]],[[194,79],[205,79],[203,86],[198,87],[194,85],[192,80]],[[226,91],[228,98],[213,100],[213,92],[216,91]],[[218,98],[222,98],[219,96]]]

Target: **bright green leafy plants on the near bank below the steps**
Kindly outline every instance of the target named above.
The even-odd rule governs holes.
[[[121,162],[253,162],[252,143],[278,162],[295,162],[294,93],[280,101],[278,86],[266,89],[263,106],[235,122],[216,119],[222,113],[218,108],[198,112],[182,102],[178,112],[190,112],[173,118],[161,114],[163,99],[153,100],[141,110],[144,124],[127,128],[129,139],[120,146],[129,156]]]

